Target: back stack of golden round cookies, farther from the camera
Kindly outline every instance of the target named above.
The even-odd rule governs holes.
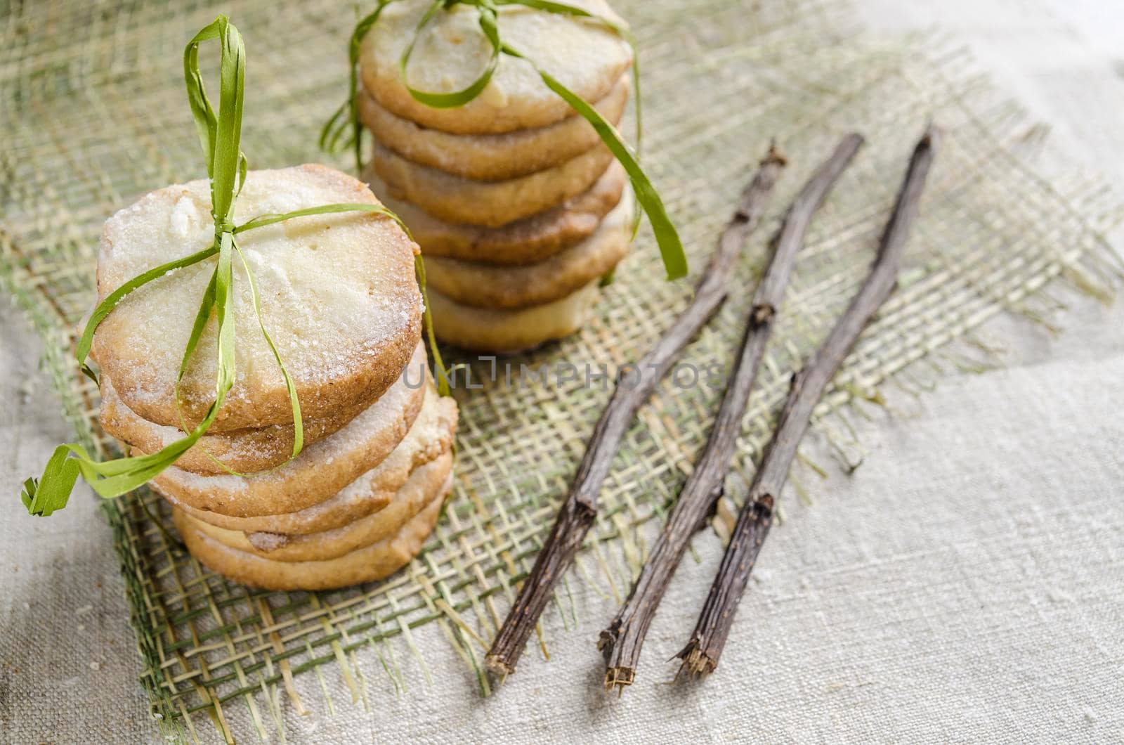
[[[517,351],[575,331],[602,276],[628,250],[627,178],[592,126],[525,60],[500,55],[481,93],[433,108],[404,84],[399,61],[432,3],[388,6],[363,41],[357,107],[373,134],[371,188],[426,257],[437,334],[480,351]],[[602,0],[575,2],[619,19]],[[501,6],[506,45],[619,123],[632,53],[602,24]],[[452,6],[418,34],[407,66],[416,90],[469,87],[491,47],[478,9]]]

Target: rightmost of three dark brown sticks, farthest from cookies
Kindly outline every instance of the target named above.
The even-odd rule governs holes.
[[[921,194],[925,188],[925,178],[933,162],[939,136],[939,131],[930,126],[917,143],[870,275],[827,340],[804,368],[792,376],[792,387],[781,410],[777,430],[750,486],[745,506],[737,515],[734,535],[726,547],[691,640],[677,655],[683,661],[680,672],[686,670],[695,675],[707,675],[718,665],[737,603],[745,592],[758,551],[769,535],[773,503],[785,486],[789,466],[800,438],[808,428],[812,412],[860,332],[897,286],[898,264],[909,228],[917,216]]]

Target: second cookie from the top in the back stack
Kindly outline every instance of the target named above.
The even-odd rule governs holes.
[[[613,90],[595,104],[614,125],[620,123],[625,111],[628,80],[628,75],[623,75]],[[359,115],[379,142],[402,158],[478,181],[500,181],[542,171],[577,158],[601,142],[592,125],[580,116],[536,129],[454,135],[396,116],[362,89]]]

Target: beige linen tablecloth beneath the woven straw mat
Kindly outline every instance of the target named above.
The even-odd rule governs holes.
[[[901,5],[860,2],[876,33],[939,23],[970,42],[999,86],[1053,125],[1070,160],[1053,165],[1124,182],[1124,11],[1091,0]],[[989,326],[1006,369],[952,375],[919,400],[901,393],[890,419],[872,411],[854,475],[800,473],[815,504],[786,492],[787,521],[704,684],[667,684],[664,661],[720,557],[709,532],[619,700],[600,691],[593,646],[617,601],[575,578],[575,628],[549,609],[551,659],[528,649],[491,698],[443,659],[453,652],[428,626],[415,632],[427,666],[399,659],[405,691],[363,656],[364,710],[325,668],[335,716],[299,717],[283,702],[289,742],[1124,739],[1124,304],[1071,299],[1059,338],[1023,321]],[[15,497],[69,434],[36,372],[40,349],[4,300],[0,742],[156,740],[89,490],[45,520],[20,514]],[[298,679],[299,690],[320,685],[315,673]]]

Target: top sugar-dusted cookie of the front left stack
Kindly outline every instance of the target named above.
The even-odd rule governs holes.
[[[379,204],[365,183],[323,165],[251,171],[235,224],[266,213],[329,203]],[[206,180],[153,191],[106,222],[98,297],[133,277],[208,248],[215,236]],[[389,388],[414,353],[422,297],[415,244],[395,221],[370,213],[298,217],[239,233],[262,321],[310,419],[370,401]],[[161,277],[123,299],[98,327],[93,357],[120,400],[139,416],[176,427],[180,360],[217,258]],[[237,377],[211,433],[292,423],[284,378],[257,325],[250,282],[234,257]],[[194,424],[215,398],[214,314],[181,384]]]

